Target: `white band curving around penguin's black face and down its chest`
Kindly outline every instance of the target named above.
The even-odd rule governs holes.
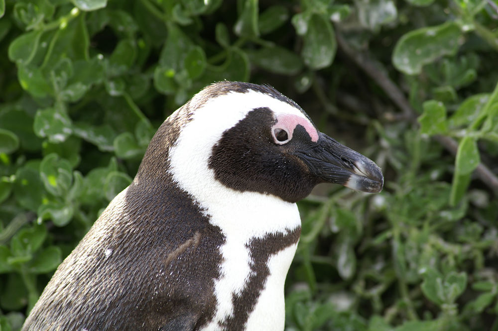
[[[250,239],[268,233],[286,233],[301,225],[296,204],[272,195],[227,188],[215,179],[214,171],[208,167],[212,148],[223,132],[245,118],[249,111],[261,107],[276,114],[306,118],[301,110],[269,95],[256,91],[231,92],[213,98],[195,110],[170,149],[173,179],[194,197],[210,217],[210,222],[219,226],[226,237],[226,243],[220,247],[223,255],[221,278],[215,282],[218,310],[214,320],[202,330],[219,330],[219,323],[233,314],[232,295],[241,293],[251,272],[246,246]],[[280,270],[278,277],[285,280],[291,260],[284,262],[285,271]],[[283,286],[283,282],[280,283]]]

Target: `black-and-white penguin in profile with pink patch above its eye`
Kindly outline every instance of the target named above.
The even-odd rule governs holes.
[[[281,331],[295,203],[323,182],[383,177],[273,88],[212,84],[159,127],[22,331]]]

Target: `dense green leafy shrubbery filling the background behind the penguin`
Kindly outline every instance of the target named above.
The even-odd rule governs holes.
[[[498,330],[496,0],[0,0],[0,329],[223,79],[267,83],[383,168],[319,187],[287,330]]]

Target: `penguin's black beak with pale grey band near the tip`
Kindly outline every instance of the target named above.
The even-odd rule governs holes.
[[[348,148],[326,134],[311,148],[294,151],[319,182],[336,183],[356,191],[382,191],[384,176],[368,157]]]

